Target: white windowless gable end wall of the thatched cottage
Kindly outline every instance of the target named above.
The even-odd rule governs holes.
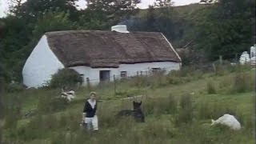
[[[62,62],[50,50],[46,35],[44,35],[26,60],[22,70],[23,83],[28,87],[37,88],[49,81],[52,74],[62,68],[64,68]]]

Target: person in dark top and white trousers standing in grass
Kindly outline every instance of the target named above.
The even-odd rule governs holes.
[[[96,93],[90,92],[90,98],[86,100],[82,112],[82,122],[88,130],[98,130],[98,117],[96,115],[97,102]]]

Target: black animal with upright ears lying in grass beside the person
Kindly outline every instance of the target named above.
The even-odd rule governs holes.
[[[134,117],[134,120],[136,122],[145,122],[145,116],[141,109],[142,101],[133,102],[133,105],[134,105],[134,110],[121,110],[120,112],[118,112],[116,117],[132,116]]]

